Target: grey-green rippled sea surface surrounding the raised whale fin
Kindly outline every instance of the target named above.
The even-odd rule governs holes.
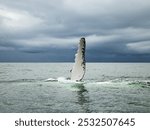
[[[150,112],[150,63],[87,63],[72,82],[73,63],[0,63],[0,112]]]

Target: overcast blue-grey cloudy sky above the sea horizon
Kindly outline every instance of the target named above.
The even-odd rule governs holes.
[[[0,61],[150,62],[150,0],[0,0]]]

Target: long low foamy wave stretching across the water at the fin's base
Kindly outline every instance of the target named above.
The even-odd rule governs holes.
[[[90,80],[86,79],[84,81],[73,81],[70,80],[69,78],[65,77],[57,77],[57,78],[48,78],[46,80],[44,79],[16,79],[16,80],[2,80],[0,83],[41,83],[43,84],[44,82],[51,82],[51,83],[58,83],[59,85],[84,85],[85,87],[140,87],[140,88],[150,88],[150,80],[143,80],[143,79],[120,79],[116,78],[113,80]],[[67,86],[68,86],[67,85]]]

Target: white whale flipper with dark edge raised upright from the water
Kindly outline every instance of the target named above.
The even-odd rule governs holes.
[[[85,75],[85,48],[86,41],[85,38],[81,38],[78,44],[78,50],[75,54],[75,63],[73,65],[71,72],[71,80],[81,81]]]

